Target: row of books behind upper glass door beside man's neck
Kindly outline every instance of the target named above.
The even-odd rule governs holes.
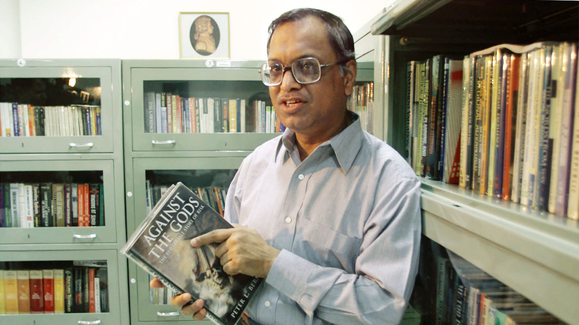
[[[275,132],[281,125],[265,101],[181,97],[148,91],[144,99],[147,133]]]

